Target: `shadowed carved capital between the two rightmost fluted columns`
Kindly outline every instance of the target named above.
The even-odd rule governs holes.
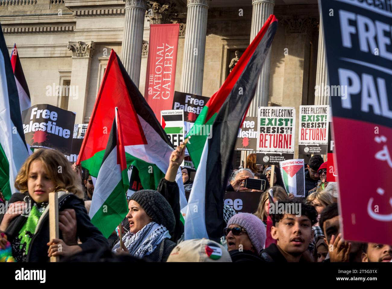
[[[309,36],[318,30],[318,20],[311,17],[299,17],[298,15],[283,16],[280,18],[279,23],[285,26],[286,34],[307,34]]]

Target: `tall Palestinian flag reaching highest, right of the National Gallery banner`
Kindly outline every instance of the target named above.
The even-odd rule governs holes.
[[[223,195],[238,129],[256,91],[277,27],[278,20],[271,15],[188,134],[191,138],[187,147],[197,171],[188,199],[185,240],[209,238],[219,242]],[[210,134],[200,135],[203,131]]]

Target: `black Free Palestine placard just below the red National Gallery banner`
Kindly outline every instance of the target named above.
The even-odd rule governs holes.
[[[192,93],[183,93],[180,91],[174,91],[173,110],[183,110],[185,119],[185,132],[187,134],[201,110],[209,100],[209,97],[196,95]]]

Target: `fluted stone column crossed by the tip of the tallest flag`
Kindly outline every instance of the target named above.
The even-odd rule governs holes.
[[[274,13],[275,0],[252,0],[252,27],[250,29],[250,42],[259,33],[268,17]],[[250,103],[247,116],[257,116],[259,106],[268,106],[269,97],[269,78],[270,78],[270,61],[271,52],[265,59],[263,69],[261,70],[256,93]]]

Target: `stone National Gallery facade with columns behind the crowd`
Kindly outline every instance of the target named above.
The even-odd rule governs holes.
[[[295,106],[298,119],[300,105],[327,104],[314,95],[327,82],[317,0],[0,0],[5,41],[10,53],[17,45],[32,104],[74,111],[76,123],[89,121],[111,49],[144,93],[150,24],[180,23],[175,90],[210,97],[272,13],[279,27],[249,114]],[[58,85],[78,89],[53,95]]]

